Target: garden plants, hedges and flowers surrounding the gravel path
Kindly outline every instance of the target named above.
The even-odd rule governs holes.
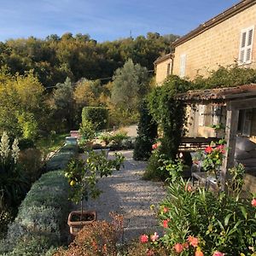
[[[44,95],[32,74],[19,79],[17,88],[28,79],[38,86],[38,97]],[[44,136],[38,130],[47,126],[40,119],[42,106],[26,106],[21,94],[21,113],[15,109],[10,116],[16,125],[3,125],[1,134],[0,255],[256,255],[256,195],[241,193],[243,166],[229,170],[224,190],[218,182],[210,189],[192,186],[183,175],[191,160],[178,152],[186,119],[176,95],[193,86],[171,76],[161,87],[144,92],[137,103],[136,138],[122,130],[107,131],[113,117],[106,106],[86,106],[80,109],[81,118],[76,116],[81,120],[78,143],[63,143],[65,129]],[[55,102],[63,91],[55,92]],[[62,114],[68,126],[72,120],[66,107],[44,111],[52,117]],[[151,206],[160,231],[143,232],[129,242],[120,239],[125,216],[109,209],[112,221],[97,220],[97,212],[86,208],[87,201],[104,193],[100,181],[124,168],[127,160],[119,152],[124,149],[133,150],[134,160],[148,161],[144,180],[161,181],[166,190],[165,199]],[[204,171],[217,180],[225,150],[229,148],[220,140],[199,154]]]

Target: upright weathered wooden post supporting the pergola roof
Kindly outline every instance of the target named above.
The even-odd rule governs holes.
[[[227,143],[227,150],[224,155],[224,162],[221,171],[221,188],[225,189],[227,171],[234,165],[235,148],[236,148],[236,132],[239,117],[239,109],[232,108],[230,104],[227,104],[227,116],[226,116],[226,129],[225,129],[225,141]]]

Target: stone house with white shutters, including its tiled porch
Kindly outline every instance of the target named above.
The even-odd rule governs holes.
[[[256,68],[255,26],[256,1],[241,0],[177,39],[171,53],[154,61],[156,84],[160,85],[169,74],[195,79],[198,74],[207,76],[208,71],[235,63]],[[240,88],[192,91],[183,96],[188,102],[187,137],[219,137],[210,126],[226,125],[230,150],[224,170],[234,160],[238,135],[256,142],[255,92],[256,84],[246,84]]]

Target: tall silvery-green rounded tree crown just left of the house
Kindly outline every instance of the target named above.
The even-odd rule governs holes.
[[[128,112],[136,111],[147,92],[147,68],[134,64],[129,59],[124,67],[115,71],[111,91],[111,102],[115,107],[126,109]]]

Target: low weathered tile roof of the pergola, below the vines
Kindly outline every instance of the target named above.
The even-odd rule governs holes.
[[[184,102],[196,101],[225,101],[245,97],[256,97],[256,84],[244,84],[236,87],[217,88],[208,90],[189,90],[177,95]]]

